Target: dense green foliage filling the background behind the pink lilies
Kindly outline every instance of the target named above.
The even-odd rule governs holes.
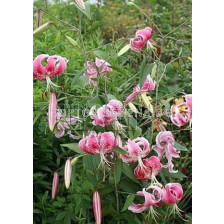
[[[57,24],[61,33],[54,26],[34,37],[34,58],[39,54],[61,55],[69,59],[68,67],[63,75],[53,81],[62,88],[57,92],[57,99],[61,109],[90,108],[98,103],[105,104],[110,98],[124,101],[131,93],[133,85],[139,82],[139,72],[142,61],[153,63],[154,59],[148,53],[136,54],[128,51],[121,57],[117,53],[129,43],[135,29],[150,26],[154,29],[153,40],[160,45],[162,38],[153,24],[138,9],[128,6],[124,1],[106,0],[105,5],[91,5],[91,20],[82,14],[72,1],[55,0],[54,4],[47,1],[34,2],[34,29],[36,12],[39,8],[47,9],[51,15],[81,29],[81,33],[72,27],[57,21],[50,14],[43,13],[43,23],[52,21]],[[99,1],[100,2],[100,1]],[[165,74],[158,89],[158,110],[169,110],[174,99],[191,93],[191,1],[187,0],[138,0],[135,3],[144,13],[157,24],[165,36],[162,46],[161,62],[158,74]],[[74,47],[65,35],[77,42],[79,49]],[[106,85],[100,82],[99,88],[88,85],[88,79],[83,76],[86,57],[94,60],[95,57],[106,59],[114,69],[108,76]],[[109,173],[105,183],[102,182],[101,171],[97,169],[98,156],[85,156],[80,158],[72,169],[72,184],[66,190],[63,184],[63,167],[68,157],[77,155],[77,145],[63,144],[78,143],[78,140],[68,136],[57,139],[48,129],[47,107],[48,97],[43,93],[46,82],[34,80],[34,223],[55,224],[93,224],[92,193],[94,189],[100,190],[103,204],[103,223],[147,223],[141,214],[133,214],[128,210],[121,212],[127,195],[135,194],[147,185],[137,181],[131,169],[126,165],[114,167]],[[155,103],[156,91],[150,93]],[[134,102],[138,108],[142,105]],[[80,115],[80,114],[79,114]],[[80,115],[81,118],[83,115]],[[191,139],[189,128],[180,129],[172,125],[169,117],[162,116],[167,123],[167,129],[175,133],[175,139],[180,144],[180,159],[175,161],[177,174],[169,174],[163,170],[159,177],[162,183],[177,180],[183,185],[184,199],[179,203],[183,210],[183,217],[191,223]],[[152,122],[147,117],[132,117],[131,129],[127,135],[138,137],[140,134],[152,139],[155,144],[157,131],[152,132]],[[141,128],[140,124],[144,124]],[[94,127],[90,118],[87,118],[82,128],[78,127],[77,135],[82,136],[83,130],[94,129],[103,131],[103,128]],[[108,127],[110,130],[110,127]],[[62,146],[63,145],[63,146]],[[59,170],[60,184],[55,200],[51,199],[51,184],[53,173]],[[117,186],[114,185],[118,179]],[[134,183],[133,183],[134,181]],[[118,188],[119,201],[117,207],[115,187]],[[163,208],[164,211],[166,208]],[[183,223],[179,217],[166,216],[164,213],[157,219],[160,224]]]

